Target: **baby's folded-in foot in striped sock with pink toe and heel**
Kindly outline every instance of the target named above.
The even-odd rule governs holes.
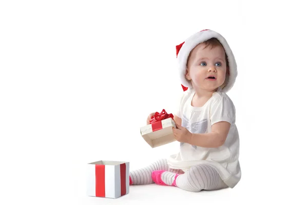
[[[179,176],[179,174],[175,174],[173,172],[167,172],[164,170],[158,170],[152,172],[152,180],[157,185],[162,186],[177,186],[176,185],[176,179]]]

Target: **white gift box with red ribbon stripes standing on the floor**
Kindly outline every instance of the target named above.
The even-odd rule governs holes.
[[[129,193],[129,162],[95,161],[87,164],[88,196],[118,198]]]

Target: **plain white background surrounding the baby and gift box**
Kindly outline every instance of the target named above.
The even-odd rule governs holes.
[[[308,16],[304,3],[282,2],[1,1],[0,203],[306,204]],[[241,181],[88,197],[87,163],[138,169],[178,151],[177,142],[150,148],[139,128],[149,113],[176,109],[175,46],[203,29],[221,33],[238,64],[227,94]]]

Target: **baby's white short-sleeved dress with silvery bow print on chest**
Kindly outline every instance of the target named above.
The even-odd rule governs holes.
[[[234,188],[241,178],[239,163],[239,134],[235,125],[235,107],[226,93],[219,89],[202,107],[191,106],[195,91],[184,92],[178,112],[182,127],[191,133],[211,132],[211,126],[219,121],[231,124],[224,145],[218,148],[203,148],[186,143],[180,144],[180,151],[171,155],[167,161],[172,169],[186,172],[191,166],[206,163],[217,170],[221,179],[230,188]]]

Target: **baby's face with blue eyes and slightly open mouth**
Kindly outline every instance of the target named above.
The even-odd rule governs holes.
[[[213,91],[225,81],[225,52],[221,46],[204,47],[204,44],[199,44],[191,51],[186,77],[194,87]]]

